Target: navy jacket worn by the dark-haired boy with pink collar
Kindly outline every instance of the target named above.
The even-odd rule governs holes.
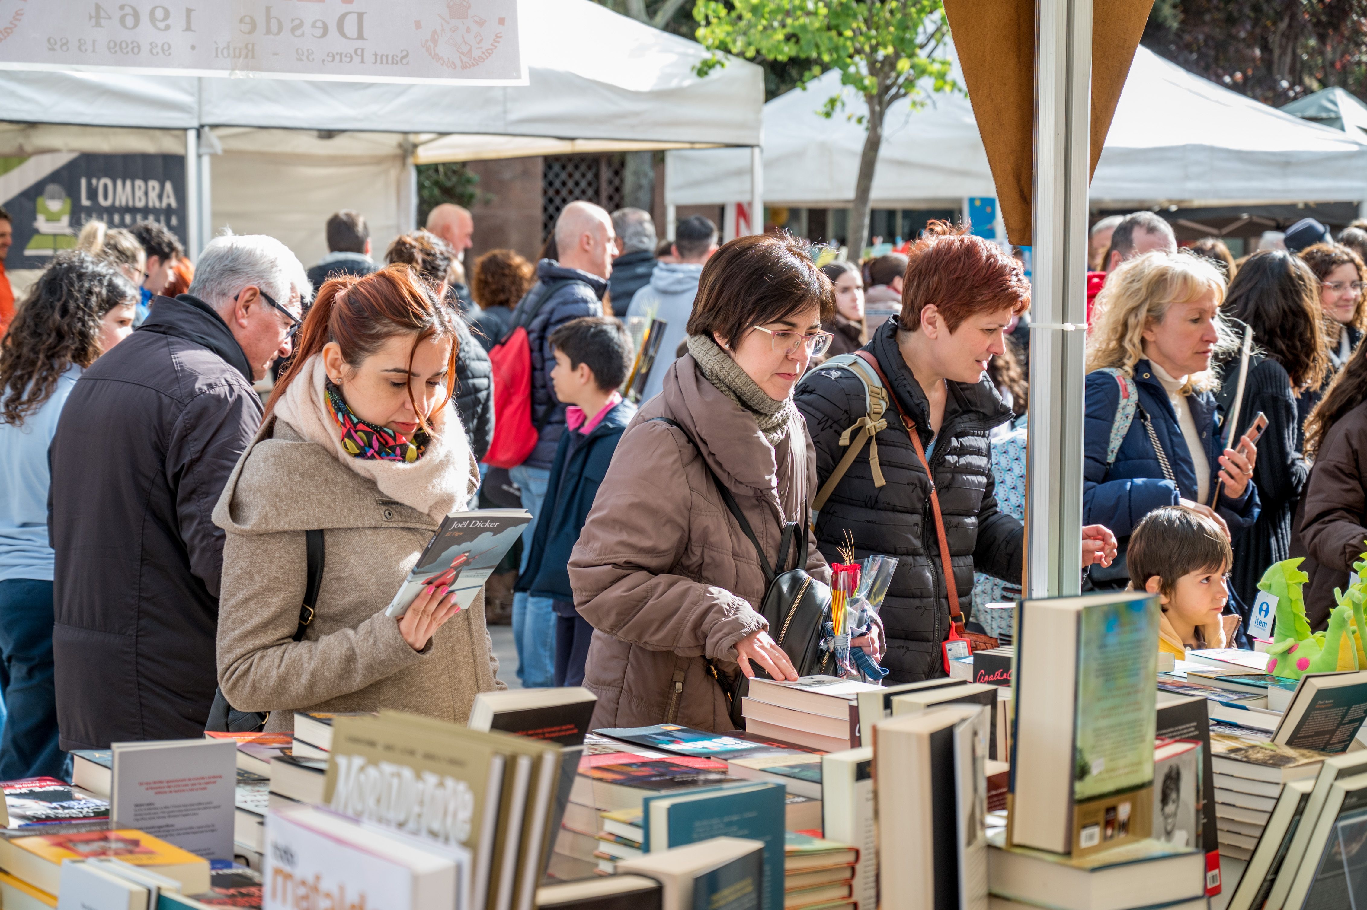
[[[567,571],[570,551],[580,540],[580,530],[593,508],[593,497],[612,462],[622,430],[634,415],[636,404],[622,402],[588,436],[573,432],[560,439],[532,536],[532,553],[526,560],[526,571],[517,579],[515,590],[574,603]]]

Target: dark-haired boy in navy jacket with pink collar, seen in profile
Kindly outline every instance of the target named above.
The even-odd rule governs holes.
[[[528,629],[524,649],[548,649],[554,641],[555,685],[580,686],[593,627],[574,609],[566,567],[622,430],[636,414],[617,391],[632,369],[632,337],[612,317],[586,316],[555,329],[550,344],[555,398],[567,406],[566,433],[555,450],[532,553],[515,590],[550,597],[555,607],[555,629]]]

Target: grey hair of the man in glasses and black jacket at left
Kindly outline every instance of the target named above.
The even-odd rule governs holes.
[[[227,306],[245,287],[258,287],[284,306],[291,291],[301,301],[313,297],[299,257],[265,234],[221,234],[200,254],[189,294],[216,310]]]

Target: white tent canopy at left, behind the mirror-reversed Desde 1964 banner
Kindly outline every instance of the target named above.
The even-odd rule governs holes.
[[[759,145],[757,66],[699,78],[700,45],[589,0],[521,0],[519,18],[514,87],[0,71],[0,156],[183,154],[186,130],[212,127],[205,227],[272,234],[309,262],[339,208],[377,243],[406,230],[410,163]]]

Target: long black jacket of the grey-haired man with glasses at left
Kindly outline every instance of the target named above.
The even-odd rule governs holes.
[[[204,734],[223,570],[209,515],[261,422],[250,377],[227,324],[182,294],[71,389],[48,452],[66,750]]]

